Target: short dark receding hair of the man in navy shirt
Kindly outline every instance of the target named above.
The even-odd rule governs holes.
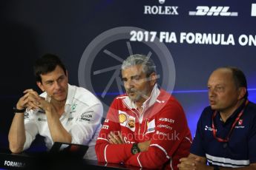
[[[237,67],[226,67],[227,69],[230,69],[232,71],[234,84],[239,87],[246,87],[246,95],[244,95],[243,98],[248,97],[248,91],[247,91],[247,81],[246,81],[246,75],[242,72],[242,70],[238,69]]]

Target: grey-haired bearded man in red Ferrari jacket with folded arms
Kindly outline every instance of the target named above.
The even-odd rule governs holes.
[[[145,55],[131,55],[123,62],[122,81],[126,94],[116,97],[108,110],[96,141],[98,160],[177,169],[191,146],[183,107],[157,86],[156,66]]]

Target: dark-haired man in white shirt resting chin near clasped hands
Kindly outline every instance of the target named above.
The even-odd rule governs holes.
[[[68,72],[56,55],[39,58],[34,73],[43,93],[27,89],[16,103],[8,136],[10,151],[24,151],[39,134],[45,137],[47,149],[54,142],[88,145],[85,158],[96,160],[102,103],[87,89],[68,84]]]

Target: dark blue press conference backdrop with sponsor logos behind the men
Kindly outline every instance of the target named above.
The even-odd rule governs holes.
[[[247,77],[256,102],[256,1],[1,1],[0,147],[8,147],[12,108],[24,89],[39,89],[32,65],[46,52],[68,67],[70,84],[102,101],[105,114],[124,87],[120,64],[141,53],[157,64],[158,83],[182,103],[192,135],[208,106],[207,80],[217,67]]]

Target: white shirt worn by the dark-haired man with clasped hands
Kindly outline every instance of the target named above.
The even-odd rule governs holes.
[[[47,98],[46,92],[43,92],[40,96]],[[89,146],[85,159],[96,160],[94,146],[102,126],[102,114],[102,103],[95,95],[85,88],[68,84],[65,112],[59,120],[72,136],[71,143]],[[26,111],[24,113],[24,126],[26,133],[24,149],[30,147],[37,134],[45,137],[47,149],[53,146],[53,140],[47,124],[47,116],[44,112],[39,109]]]

